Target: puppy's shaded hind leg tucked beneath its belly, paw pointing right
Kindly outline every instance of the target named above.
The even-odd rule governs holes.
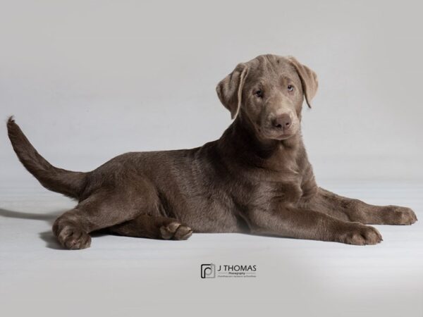
[[[192,235],[191,228],[176,219],[149,215],[137,216],[108,230],[116,235],[164,240],[186,240]]]

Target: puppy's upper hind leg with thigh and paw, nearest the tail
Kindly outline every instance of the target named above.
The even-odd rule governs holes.
[[[66,249],[84,249],[90,247],[90,232],[137,218],[158,204],[152,188],[100,189],[57,218],[53,232]]]

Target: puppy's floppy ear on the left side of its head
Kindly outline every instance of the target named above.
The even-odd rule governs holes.
[[[231,111],[231,118],[235,118],[240,111],[241,97],[243,96],[243,87],[247,73],[247,64],[239,63],[232,73],[217,84],[217,95],[223,106]]]

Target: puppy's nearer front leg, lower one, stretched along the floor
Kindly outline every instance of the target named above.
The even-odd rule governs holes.
[[[251,232],[257,235],[277,235],[357,245],[376,244],[382,240],[379,231],[369,225],[339,220],[308,209],[255,210],[248,216]]]

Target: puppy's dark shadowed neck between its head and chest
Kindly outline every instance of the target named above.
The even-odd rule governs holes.
[[[223,132],[219,148],[224,154],[254,166],[271,167],[281,158],[292,158],[303,147],[300,130],[289,139],[260,139],[255,128],[241,116]]]

